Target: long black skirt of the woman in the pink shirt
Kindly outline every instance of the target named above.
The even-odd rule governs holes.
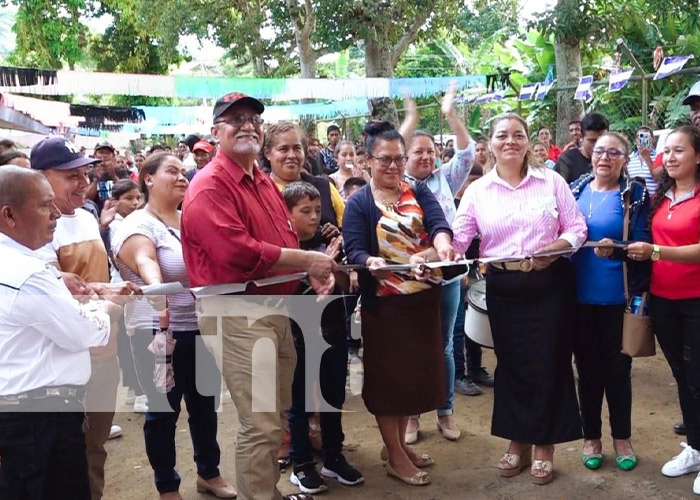
[[[498,364],[491,433],[537,445],[582,437],[571,363],[573,268],[489,268],[486,304]]]

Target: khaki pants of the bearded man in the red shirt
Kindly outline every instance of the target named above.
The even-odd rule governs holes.
[[[206,307],[208,300],[200,304],[200,330],[215,355],[221,353],[222,373],[240,422],[236,443],[238,498],[279,500],[277,451],[292,404],[296,365],[289,319],[284,311],[255,304],[246,308],[247,317],[221,317],[220,309],[212,313]],[[233,311],[240,314],[238,307]],[[221,317],[218,346],[212,342],[217,337],[211,335],[215,328],[210,320],[215,318],[207,315]]]

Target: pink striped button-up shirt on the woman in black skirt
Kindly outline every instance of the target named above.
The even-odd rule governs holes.
[[[493,168],[464,193],[452,223],[453,245],[465,252],[481,235],[481,257],[528,256],[561,238],[572,247],[586,241],[586,220],[558,173],[532,168],[513,187]]]

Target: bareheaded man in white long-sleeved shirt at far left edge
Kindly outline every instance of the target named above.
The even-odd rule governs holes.
[[[81,402],[91,373],[88,349],[107,344],[109,314],[118,316],[121,307],[80,306],[60,273],[37,256],[60,216],[43,175],[0,169],[3,500],[90,500]]]

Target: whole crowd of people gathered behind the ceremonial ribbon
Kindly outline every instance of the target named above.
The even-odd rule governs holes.
[[[633,151],[596,112],[569,124],[561,149],[548,127],[532,137],[516,114],[473,138],[454,88],[441,112],[455,139],[444,147],[417,129],[410,98],[399,129],[372,121],[353,142],[333,125],[324,147],[294,123],[266,127],[263,103],[239,93],[216,101],[211,136],[176,150],[120,155],[99,142],[88,156],[50,137],[27,157],[0,141],[0,255],[13,263],[0,269],[0,497],[102,498],[120,381],[146,413],[161,499],[182,498],[183,399],[200,492],[279,500],[285,468],[300,490],[289,500],[329,480],[362,484],[343,455],[341,412],[308,403],[341,410],[347,364],[360,358],[379,458],[397,481],[432,482],[435,460],[410,446],[421,422],[435,411],[441,435],[459,440],[455,394],[484,386],[494,387],[491,432],[508,442],[494,460],[501,476],[529,468],[533,483],[550,483],[555,445],[579,439],[582,465],[600,468],[604,397],[615,465],[630,471],[632,358],[621,345],[635,304],[648,304],[687,433],[661,472],[700,471],[700,82],[683,103],[691,124],[663,152],[648,127]],[[450,279],[428,266],[464,257],[489,261],[484,275]],[[215,295],[139,297],[164,283],[297,272],[305,277],[249,284],[237,296],[244,312]],[[486,284],[495,376],[464,332],[475,280]],[[309,294],[325,304],[316,331],[290,320],[293,301],[270,300]],[[312,375],[308,343],[319,333],[326,347]],[[218,348],[208,341],[217,335]],[[235,488],[219,469],[222,379],[240,424]]]

